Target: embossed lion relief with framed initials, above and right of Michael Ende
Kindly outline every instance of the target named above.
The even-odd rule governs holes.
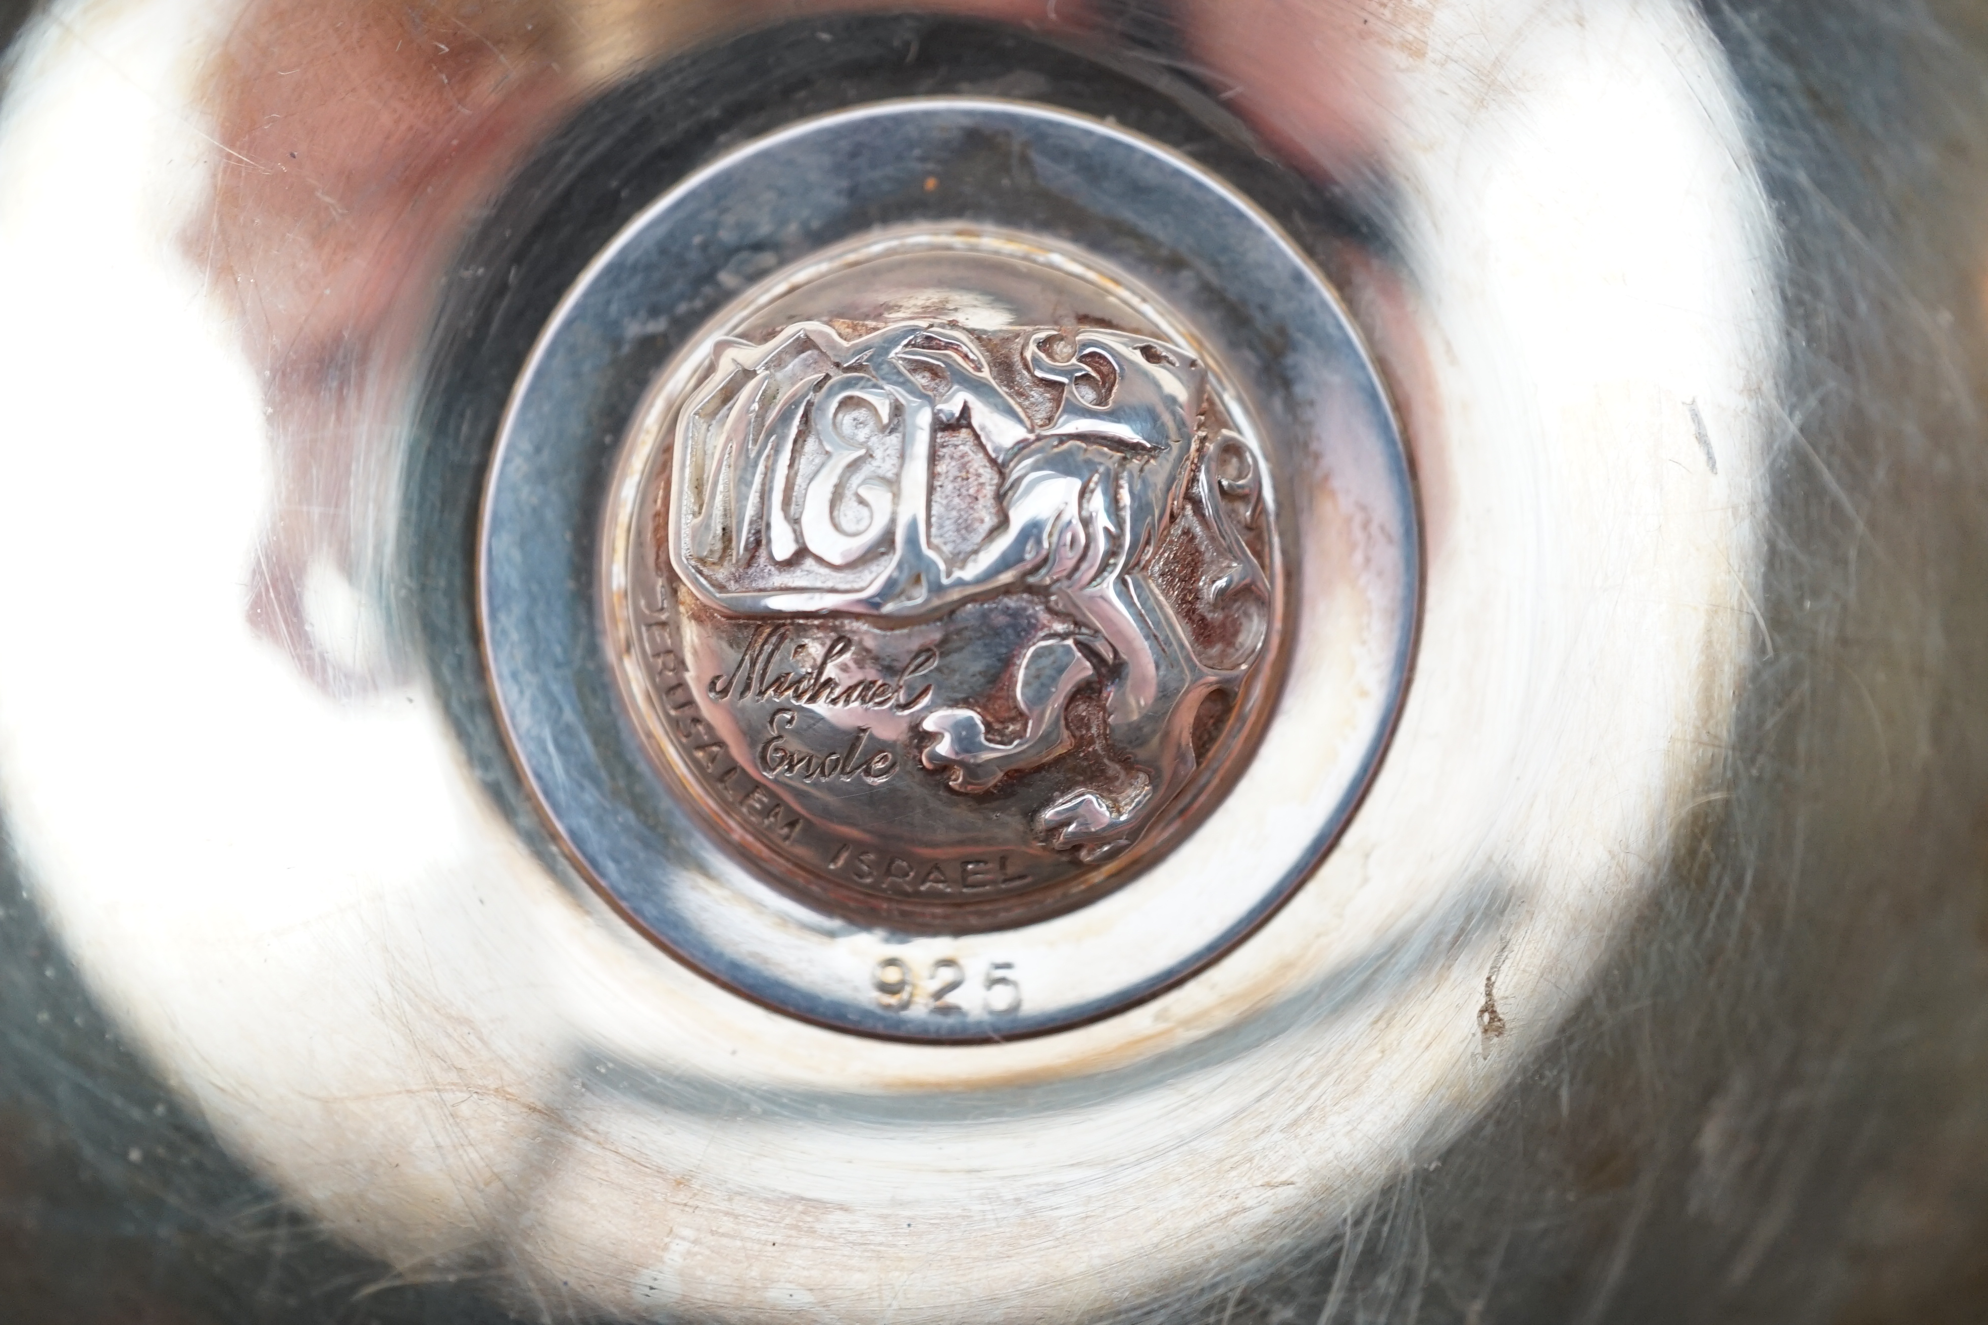
[[[1036,600],[1020,636],[934,636],[1000,652],[1000,683],[932,697],[914,763],[990,797],[1081,755],[1034,830],[1097,860],[1175,801],[1264,650],[1260,463],[1227,417],[1193,352],[1121,330],[724,340],[676,419],[668,560],[708,608],[769,624]]]

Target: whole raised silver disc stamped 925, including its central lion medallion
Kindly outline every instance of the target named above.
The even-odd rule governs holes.
[[[485,648],[547,816],[674,954],[1008,1039],[1316,864],[1415,548],[1372,366],[1254,209],[1097,121],[911,99],[734,151],[580,276],[499,441]]]

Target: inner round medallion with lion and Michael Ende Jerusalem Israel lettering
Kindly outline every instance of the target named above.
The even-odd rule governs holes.
[[[857,920],[1014,926],[1127,878],[1272,673],[1235,391],[1048,258],[940,232],[821,262],[696,344],[630,447],[608,616],[644,727],[716,830]]]

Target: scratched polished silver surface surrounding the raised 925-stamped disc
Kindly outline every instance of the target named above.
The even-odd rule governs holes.
[[[1980,8],[974,12],[1119,64],[785,4],[16,38],[10,1317],[1976,1319]],[[473,495],[561,290],[658,175],[887,95],[1113,115],[1276,199],[1423,503],[1413,685],[1324,866],[1016,1045],[682,967],[479,679]]]

